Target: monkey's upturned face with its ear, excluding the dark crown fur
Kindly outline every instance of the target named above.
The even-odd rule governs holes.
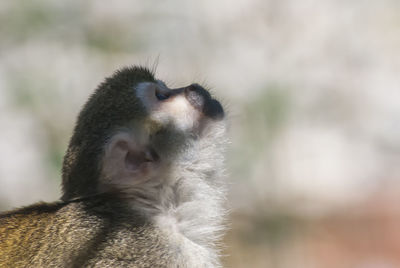
[[[193,155],[196,143],[213,138],[213,129],[224,118],[221,104],[198,84],[169,89],[159,80],[141,81],[131,90],[135,110],[144,109],[145,116],[132,115],[108,140],[101,191],[165,178],[180,159]]]

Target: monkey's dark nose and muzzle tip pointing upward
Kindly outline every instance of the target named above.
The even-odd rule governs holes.
[[[213,99],[210,93],[198,84],[192,84],[185,88],[185,96],[189,103],[204,115],[212,119],[222,119],[224,109],[222,105]]]

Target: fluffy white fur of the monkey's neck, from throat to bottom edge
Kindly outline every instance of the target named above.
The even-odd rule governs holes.
[[[207,263],[218,266],[216,244],[225,216],[225,188],[220,180],[223,158],[204,151],[200,156],[212,159],[181,159],[181,165],[169,177],[142,185],[132,193],[133,206],[171,240],[183,242],[191,247],[188,252],[198,252],[209,259]]]

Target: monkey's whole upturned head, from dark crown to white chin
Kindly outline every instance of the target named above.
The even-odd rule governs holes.
[[[210,162],[222,161],[213,151],[224,140],[223,118],[221,104],[198,84],[169,89],[146,68],[117,71],[79,114],[62,199],[157,185],[182,166],[215,172]]]

